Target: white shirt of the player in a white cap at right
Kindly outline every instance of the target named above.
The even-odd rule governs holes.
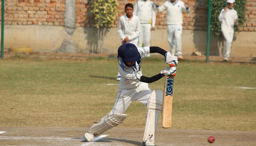
[[[236,10],[232,8],[232,9],[227,9],[227,12],[225,12],[224,9],[222,9],[221,13],[219,14],[219,21],[221,22],[221,30],[234,31],[234,21],[236,19],[238,19]]]

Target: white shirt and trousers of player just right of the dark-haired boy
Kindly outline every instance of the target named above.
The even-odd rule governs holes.
[[[150,0],[139,0],[134,5],[133,14],[138,16],[140,19],[140,35],[138,46],[142,47],[144,41],[144,46],[151,46],[151,27],[155,27],[155,8],[153,1]]]

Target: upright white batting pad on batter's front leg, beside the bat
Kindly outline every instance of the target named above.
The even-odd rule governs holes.
[[[158,120],[162,111],[163,104],[163,92],[160,89],[154,90],[149,99],[147,105],[147,120],[144,131],[143,142],[147,139],[155,141],[155,133],[157,132]]]

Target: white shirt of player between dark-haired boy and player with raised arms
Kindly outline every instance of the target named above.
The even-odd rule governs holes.
[[[151,23],[155,27],[155,8],[154,2],[150,0],[139,0],[134,5],[133,14],[138,16],[140,23]]]

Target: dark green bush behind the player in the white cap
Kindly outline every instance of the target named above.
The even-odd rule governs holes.
[[[243,26],[246,21],[245,11],[246,11],[246,0],[237,0],[234,5],[234,9],[237,11],[238,15],[238,25],[234,27],[234,31],[238,31],[238,27]],[[219,22],[219,14],[223,8],[227,7],[226,0],[212,0],[211,1],[211,31],[214,35],[221,37],[221,22]]]

